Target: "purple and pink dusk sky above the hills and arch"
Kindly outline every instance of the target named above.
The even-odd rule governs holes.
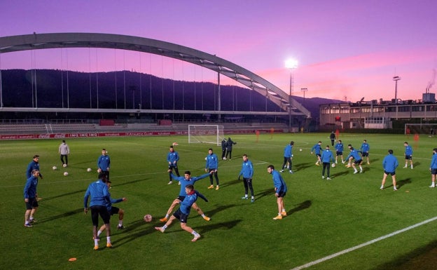
[[[109,3],[109,4],[108,4]],[[214,3],[214,4],[212,4]],[[437,1],[103,1],[3,0],[0,36],[99,32],[159,39],[234,62],[293,95],[357,101],[420,100],[437,68]],[[0,68],[129,69],[169,79],[216,75],[158,55],[56,49],[1,55]],[[230,84],[224,77],[222,84]],[[430,92],[436,93],[437,86]]]

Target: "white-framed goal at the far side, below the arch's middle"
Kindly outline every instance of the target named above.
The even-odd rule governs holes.
[[[221,125],[188,125],[188,143],[202,142],[221,145],[225,137]]]

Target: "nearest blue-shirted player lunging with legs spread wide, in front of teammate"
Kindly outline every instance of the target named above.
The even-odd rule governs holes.
[[[194,238],[191,241],[195,242],[200,238],[200,234],[193,230],[193,228],[188,227],[186,223],[188,220],[188,215],[190,215],[191,207],[195,204],[195,201],[197,201],[197,196],[200,196],[201,194],[194,190],[194,186],[192,184],[187,184],[185,186],[185,192],[186,196],[184,196],[183,201],[181,202],[181,207],[174,212],[172,217],[169,218],[164,226],[155,227],[155,229],[163,233],[165,229],[172,224],[173,220],[178,219],[181,222],[181,229],[193,234]]]

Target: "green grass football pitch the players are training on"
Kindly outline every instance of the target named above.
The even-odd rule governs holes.
[[[430,189],[429,163],[436,137],[422,136],[418,142],[404,135],[340,134],[345,146],[359,148],[363,139],[370,144],[370,165],[364,173],[338,164],[331,168],[332,180],[321,179],[321,167],[314,166],[312,145],[329,143],[328,133],[232,135],[237,144],[231,161],[220,161],[219,191],[207,189],[209,180],[195,187],[209,203],[197,201],[211,217],[206,222],[191,211],[188,225],[202,238],[192,243],[192,235],[179,222],[161,234],[160,226],[173,199],[177,184],[167,185],[165,158],[169,145],[178,142],[179,170],[193,176],[204,173],[204,157],[209,147],[220,156],[221,147],[188,144],[186,137],[105,137],[67,140],[71,149],[69,175],[64,177],[57,147],[60,140],[0,142],[1,269],[293,269],[342,250],[354,248],[437,216],[436,189]],[[277,215],[276,198],[269,164],[279,170],[283,149],[293,140],[293,170],[283,173],[289,187],[284,198],[289,213]],[[403,142],[415,150],[415,168],[404,169]],[[102,148],[111,156],[113,198],[127,197],[116,206],[126,212],[127,229],[117,231],[112,220],[114,248],[92,250],[90,215],[83,214],[83,195],[97,180],[96,161]],[[396,170],[398,191],[380,190],[382,158],[394,149],[400,163]],[[303,151],[298,151],[303,149]],[[335,153],[335,151],[333,151]],[[345,154],[348,151],[345,151]],[[41,156],[38,193],[42,198],[36,213],[39,222],[23,227],[25,203],[22,191],[25,170],[34,154]],[[237,180],[242,154],[254,163],[255,203],[241,200],[242,181]],[[52,170],[57,166],[58,170]],[[92,173],[86,169],[92,168]],[[142,217],[150,213],[153,221]],[[408,231],[375,241],[351,252],[324,260],[309,269],[435,269],[436,225],[428,222]],[[75,262],[69,258],[76,257]]]

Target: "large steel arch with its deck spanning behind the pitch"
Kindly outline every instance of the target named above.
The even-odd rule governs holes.
[[[48,33],[48,34],[27,34],[20,36],[4,36],[0,37],[0,53],[11,53],[20,50],[37,50],[49,48],[115,48],[120,50],[135,50],[143,53],[153,53],[162,55],[168,58],[174,58],[185,62],[190,62],[200,67],[211,69],[218,74],[228,76],[251,90],[255,90],[261,95],[271,100],[283,113],[271,112],[271,114],[290,114],[293,116],[310,117],[310,112],[305,109],[299,102],[289,97],[284,91],[269,81],[261,78],[250,72],[244,67],[235,65],[233,62],[216,57],[209,53],[204,53],[200,50],[188,48],[175,43],[159,41],[156,39],[147,39],[139,36],[127,36],[120,34],[102,34],[102,33]],[[220,103],[220,102],[219,102]],[[202,113],[214,114],[229,114],[231,112],[202,111]],[[15,109],[18,108],[9,108]],[[23,111],[26,108],[21,108]],[[28,108],[34,111],[35,108]],[[8,110],[1,107],[0,110]],[[44,111],[38,108],[39,111]],[[54,108],[46,108],[47,112],[54,111]],[[62,108],[56,108],[57,111],[62,111]],[[69,112],[73,109],[69,108]],[[109,112],[108,109],[97,109],[98,112]],[[95,112],[94,109],[76,109],[77,112]],[[151,110],[145,110],[146,112]],[[135,112],[137,112],[135,110]],[[162,112],[162,110],[158,111]],[[172,111],[174,113],[187,113],[187,111]],[[193,112],[190,112],[193,113]],[[258,114],[258,112],[237,112],[238,114]],[[270,114],[269,112],[259,112],[259,114]]]

